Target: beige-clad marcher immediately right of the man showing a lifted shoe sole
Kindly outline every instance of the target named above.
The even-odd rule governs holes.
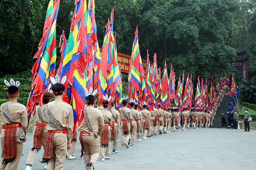
[[[134,110],[134,103],[130,102],[130,108],[131,108],[131,130],[132,130],[132,146],[135,146],[135,138],[136,138],[136,132],[137,132],[137,121],[140,119],[140,114],[137,110]]]

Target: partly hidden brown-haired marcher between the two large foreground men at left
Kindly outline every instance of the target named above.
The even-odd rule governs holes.
[[[26,162],[27,167],[25,170],[32,169],[31,166],[33,165],[33,161],[34,161],[36,152],[40,151],[42,145],[43,145],[43,147],[45,147],[45,141],[46,141],[46,136],[47,136],[48,130],[46,129],[47,122],[42,113],[43,113],[44,106],[47,103],[51,102],[51,98],[52,98],[51,93],[49,93],[49,92],[44,93],[42,107],[39,105],[36,106],[36,113],[35,113],[36,114],[36,126],[33,131],[31,150],[29,151],[29,154],[28,154],[28,159]],[[48,166],[47,163],[45,164],[44,169],[47,169],[47,166]]]

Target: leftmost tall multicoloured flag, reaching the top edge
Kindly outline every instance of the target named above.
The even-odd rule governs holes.
[[[37,59],[32,68],[32,87],[29,94],[27,112],[35,115],[36,102],[42,106],[42,94],[48,88],[49,77],[55,74],[56,66],[56,19],[60,0],[50,0],[45,22],[43,37],[38,45],[39,50],[33,57]]]

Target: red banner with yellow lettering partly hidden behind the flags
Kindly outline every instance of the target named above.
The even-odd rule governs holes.
[[[102,48],[100,48],[100,53],[102,53]],[[131,61],[130,55],[117,53],[117,62],[120,64],[122,73],[129,73],[130,61]],[[141,61],[142,61],[144,71],[146,73],[147,60],[141,59]],[[150,65],[151,65],[151,62],[150,62]]]

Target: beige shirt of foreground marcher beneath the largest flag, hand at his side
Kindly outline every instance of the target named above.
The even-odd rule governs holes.
[[[70,106],[66,102],[53,101],[48,103],[48,107],[51,110],[52,115],[60,122],[60,124],[64,128],[68,129],[68,134],[70,135],[70,138],[68,138],[69,144],[72,140],[74,128],[74,116],[72,106]],[[49,131],[58,130],[52,127],[50,124],[47,124],[46,129],[48,129]]]

